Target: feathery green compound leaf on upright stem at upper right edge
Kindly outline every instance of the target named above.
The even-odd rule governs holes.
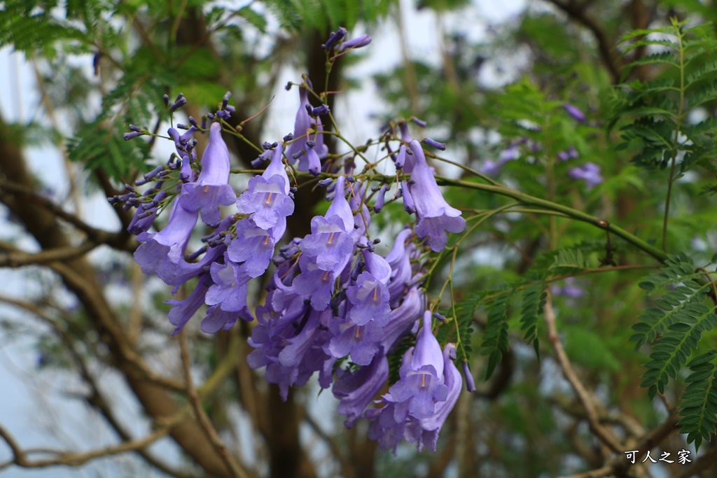
[[[638,166],[666,168],[675,161],[676,177],[694,166],[711,169],[717,125],[711,120],[690,125],[689,119],[698,107],[717,99],[713,28],[702,24],[687,29],[685,22],[673,21],[669,27],[632,32],[623,42],[626,53],[638,47],[663,49],[628,64],[625,75],[645,66],[663,67],[663,72],[657,80],[632,80],[618,91],[613,124],[630,119],[620,128],[624,140],[620,148],[635,148],[632,161]]]

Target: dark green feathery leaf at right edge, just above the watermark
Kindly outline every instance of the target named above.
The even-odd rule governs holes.
[[[687,434],[687,441],[694,441],[700,449],[702,440],[709,440],[717,424],[717,349],[709,350],[690,360],[687,366],[692,373],[680,403],[678,426]]]

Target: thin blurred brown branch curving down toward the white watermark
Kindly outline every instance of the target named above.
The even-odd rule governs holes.
[[[607,429],[600,424],[599,416],[595,405],[593,403],[590,393],[585,389],[585,386],[581,383],[577,374],[575,373],[573,366],[570,363],[568,355],[565,353],[563,344],[560,342],[558,337],[558,330],[556,328],[555,312],[553,310],[553,304],[551,301],[550,294],[546,297],[545,307],[543,309],[543,315],[545,316],[545,322],[548,326],[548,338],[553,344],[555,349],[555,355],[558,359],[560,368],[563,371],[563,375],[569,381],[573,391],[578,396],[578,400],[585,409],[587,420],[590,424],[590,428],[594,431],[597,438],[609,447],[612,451],[622,453],[622,445],[619,444],[617,439]]]

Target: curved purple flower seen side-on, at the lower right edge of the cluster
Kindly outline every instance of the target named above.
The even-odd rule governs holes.
[[[449,343],[443,350],[443,383],[448,388],[445,401],[436,404],[435,411],[431,416],[410,421],[406,425],[404,437],[407,441],[416,441],[418,451],[422,451],[424,446],[436,451],[438,434],[460,396],[462,380],[460,372],[451,360],[452,355],[455,355],[455,345]]]

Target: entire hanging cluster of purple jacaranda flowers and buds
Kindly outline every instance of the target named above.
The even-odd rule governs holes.
[[[331,35],[325,45],[328,55],[371,41],[364,35],[343,42],[345,35],[345,29]],[[206,115],[201,125],[190,117],[189,125],[177,125],[184,133],[169,128],[176,153],[136,184],[153,182],[150,188],[140,193],[128,186],[127,194],[110,201],[125,209],[136,207],[129,230],[141,243],[135,259],[143,272],[173,286],[173,294],[189,281],[194,284],[186,298],[168,302],[174,334],[199,310],[204,310],[201,330],[206,333],[228,330],[237,319],[256,318],[249,364],[265,368],[266,380],[279,386],[283,398],[289,387],[303,386],[318,373],[320,386],[331,387],[338,398],[346,426],[364,418],[370,421],[369,435],[384,449],[395,451],[406,439],[419,450],[435,450],[462,378],[453,363],[456,345],[442,347],[435,338],[434,314],[427,310],[422,288],[424,264],[427,254],[445,249],[449,232],[465,229],[465,219],[443,198],[422,143],[409,135],[407,123],[399,123],[401,138],[393,129],[385,137],[399,142],[393,153],[386,139],[396,176],[356,174],[355,157],[341,161],[328,154],[323,123],[333,118],[328,106],[311,105],[308,79],[299,93],[293,133],[264,143],[252,164],[265,168],[250,178],[246,191],[237,195],[229,183],[230,155],[222,126],[234,108],[227,93],[220,109]],[[169,105],[166,97],[165,102],[174,112],[186,98],[179,95]],[[201,158],[195,150],[198,133],[209,134]],[[130,125],[125,139],[143,134],[146,130]],[[434,140],[423,143],[445,149]],[[286,218],[296,207],[295,177],[305,177],[302,173],[323,176],[318,187],[326,188],[331,204],[326,214],[311,219],[310,234],[287,240]],[[370,239],[371,219],[399,198],[417,221],[397,234],[384,257],[376,252],[379,240]],[[169,209],[166,226],[151,232],[164,209]],[[190,252],[200,220],[209,234]],[[252,310],[250,282],[267,271],[268,294]],[[402,353],[399,380],[387,383],[389,357],[397,350]]]

